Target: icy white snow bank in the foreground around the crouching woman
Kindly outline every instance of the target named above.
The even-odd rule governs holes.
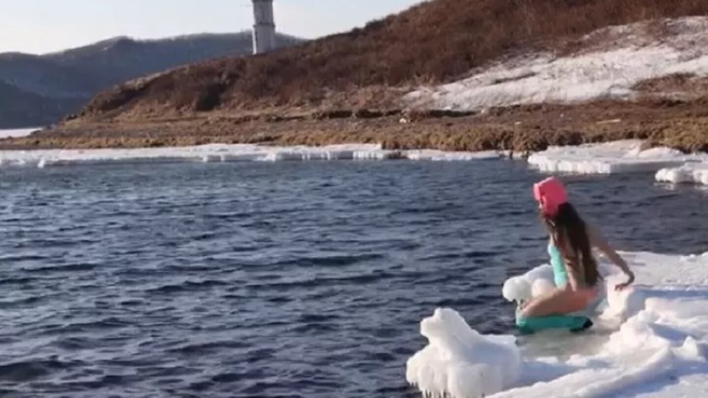
[[[545,333],[525,337],[518,347],[510,343],[513,336],[478,334],[452,309],[438,309],[421,322],[428,346],[409,360],[407,380],[425,394],[457,398],[703,397],[708,392],[708,253],[622,256],[638,284],[615,292],[612,287],[624,278],[603,263],[607,302],[597,326],[583,334],[548,332],[556,346],[576,341],[563,358],[525,354],[537,341],[549,343]],[[515,300],[530,294],[535,282],[551,275],[544,265],[510,278],[503,295]],[[596,347],[583,349],[583,344]]]

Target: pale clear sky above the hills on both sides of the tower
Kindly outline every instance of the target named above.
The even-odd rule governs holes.
[[[421,0],[274,0],[280,33],[318,38]],[[115,36],[166,38],[250,29],[250,0],[0,0],[0,52],[43,54]]]

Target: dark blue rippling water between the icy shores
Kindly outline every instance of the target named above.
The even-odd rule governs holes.
[[[2,169],[3,397],[408,397],[418,322],[512,331],[545,261],[521,162]],[[574,177],[625,250],[708,250],[708,194]]]

